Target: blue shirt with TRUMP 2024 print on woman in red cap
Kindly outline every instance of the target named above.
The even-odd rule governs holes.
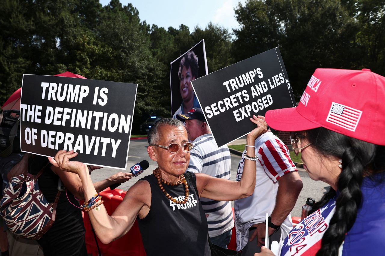
[[[355,223],[341,244],[340,255],[385,254],[385,181],[379,183],[380,178],[381,174],[363,179],[362,206],[358,208]],[[315,255],[335,213],[338,194],[337,191],[333,199],[290,231],[281,248],[281,255]]]

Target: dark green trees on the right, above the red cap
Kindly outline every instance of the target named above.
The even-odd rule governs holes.
[[[233,58],[280,47],[299,100],[315,68],[372,68],[384,75],[383,1],[249,0],[236,8]]]

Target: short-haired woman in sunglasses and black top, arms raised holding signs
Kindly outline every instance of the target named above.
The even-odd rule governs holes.
[[[267,125],[263,116],[254,115],[250,121],[256,128],[246,136],[246,141],[248,145],[254,145],[256,138],[266,132]],[[87,204],[85,211],[102,243],[123,236],[137,220],[147,255],[212,255],[211,248],[215,249],[215,246],[209,243],[207,219],[200,198],[232,201],[250,196],[255,188],[255,163],[258,161],[254,148],[246,149],[247,160],[241,179],[231,181],[204,173],[186,172],[193,145],[179,120],[163,118],[157,121],[147,140],[147,153],[157,162],[158,168],[127,191],[111,216],[103,204],[95,206],[99,204],[95,199],[98,195],[87,167],[72,161],[77,153],[62,150],[55,159],[49,160],[61,170],[79,176],[84,197],[90,198],[89,202],[95,200],[95,203]]]

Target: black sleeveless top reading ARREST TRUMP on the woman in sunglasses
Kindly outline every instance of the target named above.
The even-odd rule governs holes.
[[[138,220],[139,229],[146,253],[165,256],[210,256],[208,226],[201,201],[196,191],[194,173],[185,173],[189,186],[189,199],[186,204],[176,204],[166,198],[159,189],[154,175],[146,180],[151,187],[151,207],[146,217]],[[167,193],[184,199],[184,185],[163,185]],[[183,198],[183,199],[182,199]]]

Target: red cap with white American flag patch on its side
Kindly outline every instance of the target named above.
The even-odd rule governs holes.
[[[385,145],[385,77],[367,68],[317,68],[298,106],[269,110],[266,122],[281,131],[324,127]]]

